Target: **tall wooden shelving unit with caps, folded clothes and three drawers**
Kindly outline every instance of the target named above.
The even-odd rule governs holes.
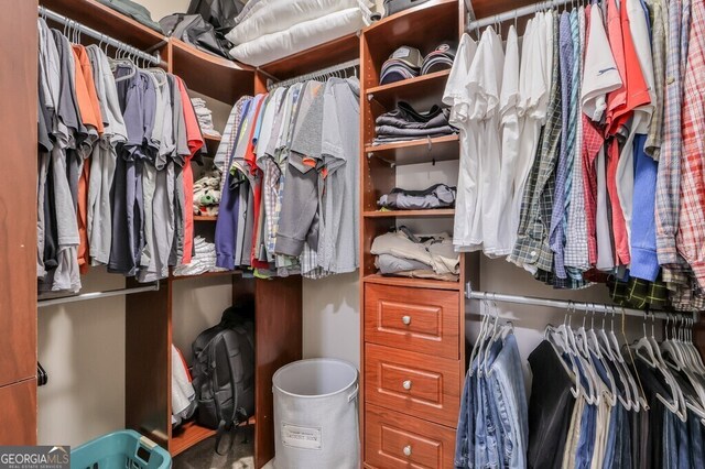
[[[378,210],[377,200],[397,186],[399,166],[457,161],[459,139],[453,134],[381,145],[372,141],[375,119],[399,101],[420,111],[442,106],[449,70],[379,85],[380,70],[402,45],[425,55],[442,42],[457,41],[464,4],[432,0],[372,24],[360,39],[360,422],[364,466],[370,469],[453,467],[454,423],[465,375],[465,255],[460,254],[458,282],[445,282],[381,275],[370,250],[373,239],[400,220],[427,223],[427,232],[434,232],[438,221],[455,215],[452,208]],[[394,370],[393,375],[384,370]],[[391,435],[390,446],[384,441]],[[402,452],[406,446],[413,451]]]

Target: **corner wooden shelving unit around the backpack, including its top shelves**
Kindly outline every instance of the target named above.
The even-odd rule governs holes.
[[[252,67],[199,51],[174,37],[150,30],[96,0],[41,0],[41,4],[67,18],[101,31],[143,51],[159,52],[162,67],[178,75],[186,86],[207,97],[232,106],[243,95],[252,95],[257,74]],[[36,6],[33,6],[36,14]],[[347,39],[346,47],[351,43]],[[328,45],[329,47],[340,47]],[[327,50],[335,59],[333,50]],[[357,55],[357,50],[355,51]],[[279,61],[280,69],[301,67],[301,57]],[[310,61],[315,66],[315,59]],[[34,119],[35,121],[36,119]],[[213,156],[220,139],[206,137]],[[36,171],[34,171],[36,173]],[[213,233],[216,217],[194,217],[198,231]],[[187,423],[171,426],[171,345],[173,329],[180,327],[173,316],[175,288],[188,288],[196,279],[224,279],[232,284],[232,298],[251,297],[256,314],[256,411],[254,467],[261,468],[274,456],[272,375],[282,366],[301,359],[302,291],[301,277],[271,281],[243,277],[242,272],[206,272],[173,276],[159,291],[126,297],[126,415],[128,428],[134,428],[177,455],[214,435],[208,428]],[[128,286],[139,285],[127,280]],[[199,331],[194,331],[194,338]],[[1,360],[0,360],[1,361]]]

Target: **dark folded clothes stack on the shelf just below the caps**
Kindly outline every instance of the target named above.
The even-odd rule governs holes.
[[[397,109],[384,112],[375,121],[377,137],[372,144],[433,139],[457,133],[458,130],[448,123],[449,114],[447,108],[433,106],[426,112],[419,112],[409,102],[399,101]]]

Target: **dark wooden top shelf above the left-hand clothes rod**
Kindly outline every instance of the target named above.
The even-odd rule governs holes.
[[[140,50],[166,41],[164,34],[96,0],[40,0],[40,4]]]

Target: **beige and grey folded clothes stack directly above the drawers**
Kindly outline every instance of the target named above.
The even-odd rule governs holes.
[[[417,236],[400,227],[375,238],[370,252],[382,275],[458,281],[460,257],[447,233]]]

